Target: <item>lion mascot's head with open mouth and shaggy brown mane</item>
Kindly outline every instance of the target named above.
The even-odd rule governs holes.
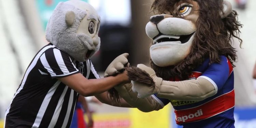
[[[155,0],[146,34],[153,40],[151,66],[163,79],[185,79],[205,58],[236,60],[231,37],[239,38],[237,12],[223,0]],[[238,35],[237,35],[238,34]]]

